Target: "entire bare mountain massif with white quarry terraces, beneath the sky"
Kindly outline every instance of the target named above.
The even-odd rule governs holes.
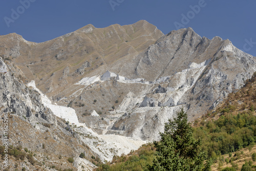
[[[182,107],[190,121],[215,109],[256,71],[256,58],[228,39],[201,37],[191,28],[164,35],[145,20],[87,25],[42,43],[12,33],[0,36],[0,56],[8,70],[1,69],[2,79],[8,78],[1,87],[4,112],[32,130],[37,123],[55,125],[50,128],[65,134],[68,129],[75,147],[88,145],[88,151],[72,146],[73,157],[91,153],[101,161],[157,140],[164,123]],[[20,97],[7,103],[8,92]],[[35,145],[27,146],[38,151]],[[86,159],[95,163],[92,156]]]

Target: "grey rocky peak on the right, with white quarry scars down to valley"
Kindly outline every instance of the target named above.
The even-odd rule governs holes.
[[[157,139],[157,134],[152,133],[163,131],[163,120],[174,117],[179,108],[185,108],[189,120],[193,120],[240,89],[256,71],[255,62],[255,57],[237,49],[229,40],[202,38],[191,28],[172,31],[135,58],[130,64],[134,70],[124,67],[119,73],[160,86],[147,90],[140,110],[134,106],[133,115],[116,123],[127,136]],[[134,125],[139,120],[140,125]]]

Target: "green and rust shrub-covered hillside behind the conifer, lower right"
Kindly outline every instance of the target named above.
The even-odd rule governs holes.
[[[252,167],[255,165],[255,89],[256,73],[245,81],[244,87],[228,94],[215,111],[191,122],[195,139],[201,139],[202,149],[212,159],[211,170],[225,167],[241,170],[247,162]],[[110,170],[142,170],[146,164],[152,165],[156,156],[155,145],[144,144],[126,156],[118,156],[102,164],[97,171],[108,167]]]

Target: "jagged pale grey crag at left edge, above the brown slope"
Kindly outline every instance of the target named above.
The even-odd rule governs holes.
[[[1,57],[0,63],[0,67],[6,66]],[[53,113],[42,105],[40,95],[15,78],[12,72],[1,73],[0,87],[0,106],[3,112],[26,117],[32,124],[37,120],[56,124]]]

